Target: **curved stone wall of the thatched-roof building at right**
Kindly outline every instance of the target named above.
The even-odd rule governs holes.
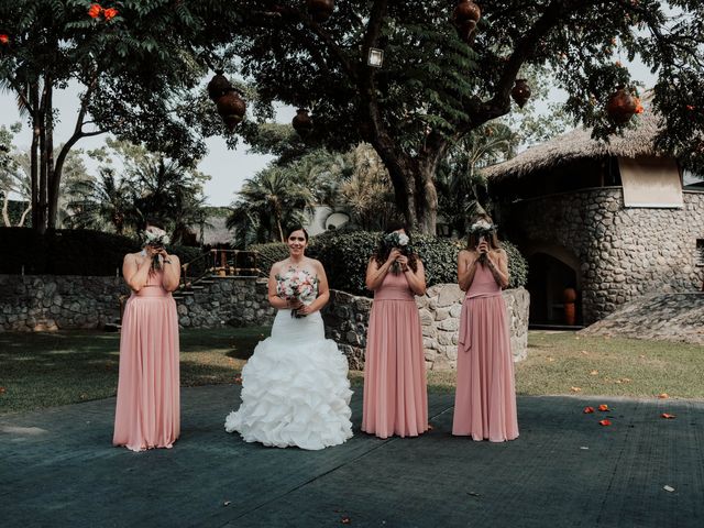
[[[579,263],[585,323],[649,293],[702,288],[696,240],[704,239],[704,193],[684,191],[682,209],[625,208],[620,187],[520,200],[499,223],[526,255],[536,250]]]

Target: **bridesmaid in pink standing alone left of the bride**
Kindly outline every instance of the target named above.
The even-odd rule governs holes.
[[[112,438],[132,451],[170,448],[180,432],[178,315],[172,297],[180,263],[166,253],[163,229],[148,223],[144,235],[144,250],[127,254],[122,265],[132,295],[122,317]]]

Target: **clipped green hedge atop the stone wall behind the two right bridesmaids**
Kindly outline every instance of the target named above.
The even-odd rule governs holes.
[[[331,288],[369,297],[373,294],[364,285],[366,265],[381,235],[371,231],[328,231],[310,239],[306,254],[322,263]],[[458,253],[464,248],[463,241],[414,234],[413,245],[425,265],[428,286],[457,282]],[[508,254],[508,287],[525,286],[526,260],[510,242],[502,242],[502,245]],[[252,245],[250,250],[265,255],[267,262],[262,262],[260,267],[264,270],[265,265],[267,274],[274,262],[288,256],[286,244],[280,242]]]

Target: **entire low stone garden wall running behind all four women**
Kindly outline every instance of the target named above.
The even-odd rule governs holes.
[[[177,300],[182,328],[271,324],[275,310],[266,279],[217,278]],[[129,295],[119,277],[0,275],[0,331],[101,328],[120,317],[120,297]],[[417,298],[428,369],[457,366],[459,317],[463,294],[454,284],[436,285]],[[514,360],[526,356],[528,293],[504,292],[512,324]],[[363,369],[372,299],[331,290],[323,309],[327,337],[340,345],[352,369]]]

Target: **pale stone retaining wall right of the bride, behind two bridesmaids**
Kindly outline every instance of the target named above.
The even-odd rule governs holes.
[[[429,370],[457,369],[458,333],[464,293],[455,284],[428,288],[416,302],[420,309],[426,366]],[[528,349],[529,296],[524,288],[504,292],[510,321],[514,361],[526,358]],[[353,369],[364,366],[364,348],[372,299],[333,292],[322,311],[327,337],[338,342]]]

